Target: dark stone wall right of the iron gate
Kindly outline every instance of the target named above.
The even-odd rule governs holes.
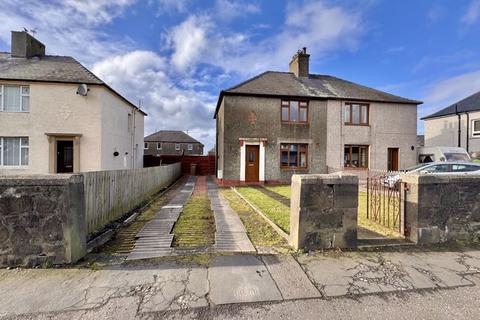
[[[480,177],[405,175],[406,224],[420,244],[480,240]]]

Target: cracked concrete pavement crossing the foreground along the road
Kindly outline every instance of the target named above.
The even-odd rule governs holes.
[[[309,299],[305,301],[311,307],[328,306],[325,298],[345,296],[353,303],[365,295],[395,292],[423,292],[425,297],[443,289],[480,284],[480,250],[302,255],[297,259],[232,255],[217,256],[204,266],[135,261],[100,271],[0,270],[0,317],[163,319],[189,309],[192,318],[197,318],[198,312],[205,314],[220,305]],[[381,299],[386,306],[387,298]],[[303,318],[300,314],[306,310],[298,312]]]

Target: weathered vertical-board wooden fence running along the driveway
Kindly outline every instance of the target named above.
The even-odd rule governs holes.
[[[148,196],[170,185],[181,173],[180,163],[82,173],[88,234],[117,220]]]

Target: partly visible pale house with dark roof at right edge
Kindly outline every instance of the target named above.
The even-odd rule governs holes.
[[[461,147],[480,152],[480,92],[431,115],[425,121],[425,146]]]

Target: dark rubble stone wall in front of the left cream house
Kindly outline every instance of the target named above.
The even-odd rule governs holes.
[[[0,177],[0,266],[77,261],[85,237],[82,176]]]

